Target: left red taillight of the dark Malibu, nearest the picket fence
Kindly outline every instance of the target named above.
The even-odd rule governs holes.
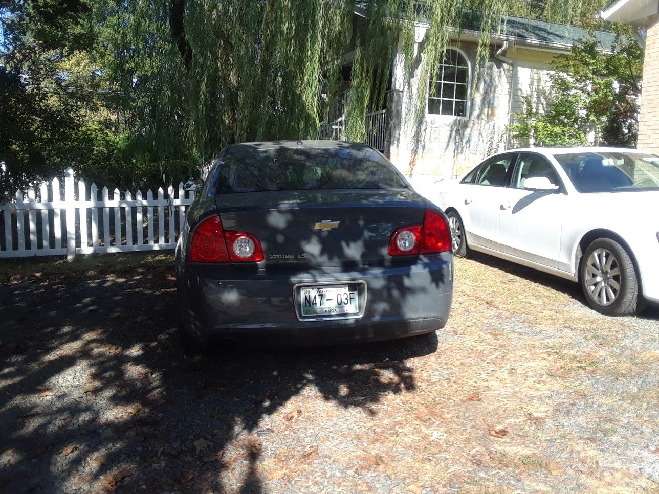
[[[190,261],[192,262],[259,262],[263,249],[256,236],[222,228],[219,217],[205,219],[192,235]]]

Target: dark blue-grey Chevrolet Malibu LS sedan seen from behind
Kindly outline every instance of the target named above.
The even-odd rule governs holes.
[[[331,344],[430,333],[453,293],[447,217],[378,151],[333,141],[221,151],[176,248],[181,336]]]

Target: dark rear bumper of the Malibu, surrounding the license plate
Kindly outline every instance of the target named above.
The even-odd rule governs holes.
[[[333,344],[430,333],[444,327],[453,296],[451,253],[395,267],[296,273],[190,263],[178,271],[181,322],[200,340]],[[368,298],[358,319],[299,320],[294,287],[364,281]]]

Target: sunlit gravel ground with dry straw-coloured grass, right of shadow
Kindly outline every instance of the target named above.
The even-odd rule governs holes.
[[[577,483],[601,492],[652,488],[652,481],[599,446],[614,441],[623,416],[648,420],[658,395],[643,397],[644,406],[630,418],[629,400],[596,391],[592,379],[649,373],[656,370],[656,352],[617,353],[614,344],[629,319],[592,312],[579,300],[577,285],[533,271],[522,270],[528,276],[520,277],[500,269],[519,271],[511,265],[483,261],[488,259],[456,261],[447,337],[436,353],[407,361],[415,390],[388,395],[372,406],[371,416],[359,418],[347,419],[345,410],[310,397],[287,404],[306,410],[314,404],[308,413],[326,423],[360,421],[352,438],[360,447],[345,451],[345,437],[323,436],[321,461],[349,456],[349,470],[384,472],[434,489],[555,490]],[[566,427],[571,414],[583,432]],[[617,441],[620,455],[634,448]],[[285,462],[275,456],[262,467],[281,470]],[[287,470],[291,478],[303,471]]]

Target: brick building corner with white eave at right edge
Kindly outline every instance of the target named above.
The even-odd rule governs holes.
[[[631,24],[637,33],[645,31],[645,40],[640,34],[637,36],[641,45],[645,44],[637,146],[659,154],[659,1],[616,0],[598,17]]]

